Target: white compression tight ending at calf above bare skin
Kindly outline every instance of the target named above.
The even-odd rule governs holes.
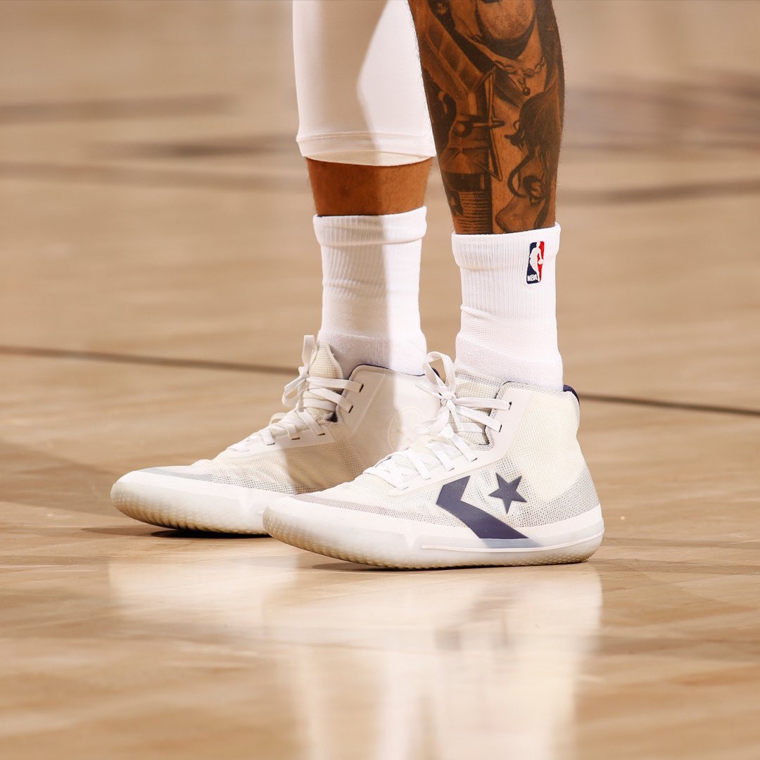
[[[293,0],[302,156],[400,166],[435,156],[407,0]]]

